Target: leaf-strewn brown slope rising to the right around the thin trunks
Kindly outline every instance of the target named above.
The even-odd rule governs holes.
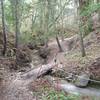
[[[71,49],[66,49],[63,53],[58,52],[57,45],[55,43],[50,45],[50,48],[52,48],[51,54],[54,55],[54,58],[58,63],[58,68],[74,75],[88,73],[91,76],[91,79],[100,80],[100,32],[91,32],[84,38],[86,57],[81,56],[79,39],[73,39],[75,38],[68,38],[66,39],[67,41],[65,40],[64,42],[61,42],[61,44],[63,44],[62,47],[66,49],[70,46],[67,42],[74,41]],[[57,72],[57,74],[62,73]]]

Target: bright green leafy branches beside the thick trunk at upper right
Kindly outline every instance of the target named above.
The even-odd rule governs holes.
[[[100,9],[100,3],[90,2],[88,5],[84,5],[83,9],[80,9],[80,16],[85,17],[85,23],[82,25],[84,30],[83,35],[86,36],[92,31],[92,19],[91,15],[94,12],[98,12]],[[84,22],[84,21],[83,21]]]

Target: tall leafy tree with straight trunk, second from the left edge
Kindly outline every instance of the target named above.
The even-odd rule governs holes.
[[[23,0],[8,0],[8,1],[9,2],[8,2],[7,7],[10,11],[10,13],[7,14],[7,16],[10,17],[8,24],[12,25],[12,26],[10,25],[10,28],[13,32],[15,32],[15,48],[17,48],[19,45],[19,36],[20,36],[20,27],[22,24],[22,17],[25,14],[23,11],[25,1],[23,1]]]

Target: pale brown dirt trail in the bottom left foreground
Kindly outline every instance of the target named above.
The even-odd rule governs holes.
[[[19,75],[5,83],[0,90],[0,100],[35,100],[32,92],[28,89],[31,80],[19,79]]]

